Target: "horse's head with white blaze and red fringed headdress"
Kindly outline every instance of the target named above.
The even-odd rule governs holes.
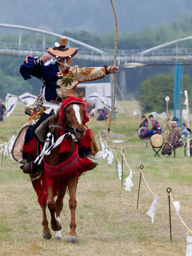
[[[63,95],[61,112],[59,114],[60,119],[69,126],[69,129],[73,131],[77,139],[82,139],[86,133],[84,124],[89,121],[84,108],[82,100],[82,92],[80,95],[75,94]]]

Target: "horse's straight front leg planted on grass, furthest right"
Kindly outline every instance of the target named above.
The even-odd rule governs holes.
[[[67,239],[68,242],[77,243],[77,234],[76,234],[76,223],[75,223],[75,210],[77,207],[77,200],[76,200],[76,188],[78,183],[78,177],[72,176],[68,181],[69,186],[69,207],[71,210],[71,223],[70,223],[70,235]]]

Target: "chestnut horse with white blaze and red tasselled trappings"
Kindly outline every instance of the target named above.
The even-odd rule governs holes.
[[[84,170],[93,169],[94,163],[90,161],[87,157],[81,158],[86,159],[86,163],[89,163],[89,167],[84,168],[84,170],[77,170],[73,168],[73,172],[70,174],[59,174],[55,176],[53,174],[50,175],[49,173],[46,174],[45,172],[45,164],[47,166],[60,166],[63,162],[68,161],[68,165],[72,163],[71,158],[73,157],[73,154],[77,151],[77,144],[74,143],[74,139],[76,138],[78,140],[82,139],[84,135],[86,134],[86,129],[84,127],[85,118],[87,118],[86,121],[88,121],[88,117],[86,114],[86,110],[84,109],[84,105],[82,102],[82,94],[78,97],[63,97],[61,108],[58,109],[57,114],[51,117],[49,120],[49,126],[51,125],[51,132],[54,136],[55,141],[61,136],[61,134],[65,134],[66,132],[73,133],[72,136],[68,136],[65,140],[67,140],[69,151],[61,153],[59,150],[61,148],[60,146],[56,146],[51,151],[50,155],[44,157],[44,170],[42,171],[41,177],[39,179],[33,180],[32,184],[33,187],[37,193],[38,201],[42,209],[42,225],[44,227],[43,229],[43,238],[44,239],[51,239],[52,234],[50,232],[50,229],[48,227],[48,219],[46,216],[46,207],[48,206],[51,214],[51,229],[56,231],[56,240],[61,240],[61,225],[60,225],[60,213],[63,206],[63,198],[66,194],[67,187],[69,188],[69,207],[71,210],[71,223],[70,223],[70,234],[67,239],[68,242],[77,242],[77,234],[76,234],[76,223],[75,223],[75,209],[77,206],[76,201],[76,188],[78,183],[78,177]],[[71,101],[70,101],[71,99]],[[64,104],[63,102],[68,102],[68,104]],[[63,118],[61,118],[61,116]],[[64,131],[63,131],[64,129]],[[62,132],[62,133],[61,133]],[[78,156],[79,159],[79,156]],[[80,159],[80,161],[81,161]],[[87,166],[88,166],[87,165]],[[85,165],[81,165],[85,166]],[[66,165],[63,167],[65,168]],[[54,168],[54,167],[53,167]],[[57,170],[60,170],[60,167],[57,168]],[[54,173],[55,170],[53,170]],[[34,175],[30,175],[30,177],[35,177]],[[51,182],[50,182],[51,180]],[[41,187],[41,188],[40,188]],[[40,189],[40,192],[39,192]],[[44,199],[42,198],[42,193],[44,193]],[[57,195],[57,199],[55,201],[54,197]],[[56,215],[56,216],[55,216]]]

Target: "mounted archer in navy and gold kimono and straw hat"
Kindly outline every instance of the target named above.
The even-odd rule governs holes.
[[[31,147],[34,131],[38,125],[47,117],[56,113],[61,103],[62,95],[70,90],[75,90],[80,82],[100,79],[106,74],[116,73],[119,69],[114,65],[96,68],[72,67],[72,57],[75,56],[78,49],[66,48],[66,45],[67,37],[61,37],[60,45],[56,43],[56,47],[46,49],[52,58],[50,56],[42,56],[40,58],[28,56],[24,64],[20,67],[20,73],[25,80],[31,78],[32,75],[43,82],[36,110],[26,124],[29,127],[28,129],[25,128],[25,130],[27,130],[27,132],[25,131],[25,148]],[[47,62],[44,65],[45,61]],[[88,129],[88,127],[86,127],[86,129]],[[98,159],[100,157],[93,136],[92,145],[87,154],[93,159]],[[27,152],[24,152],[22,158],[28,161],[30,156]],[[25,160],[22,160],[22,162],[25,162]]]

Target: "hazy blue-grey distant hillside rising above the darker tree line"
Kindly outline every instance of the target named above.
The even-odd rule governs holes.
[[[191,15],[191,0],[114,0],[119,32],[156,27],[181,14]],[[115,29],[110,0],[0,0],[0,23],[24,25],[56,33]]]

